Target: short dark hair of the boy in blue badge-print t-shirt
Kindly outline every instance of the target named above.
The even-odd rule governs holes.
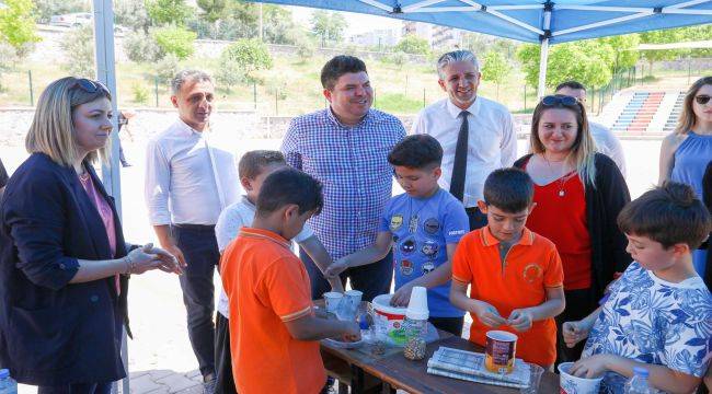
[[[409,169],[425,169],[439,166],[443,162],[443,147],[428,135],[407,136],[388,154],[391,165]]]

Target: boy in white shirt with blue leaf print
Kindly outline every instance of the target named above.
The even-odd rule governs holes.
[[[691,251],[708,236],[711,221],[694,192],[679,183],[665,183],[623,208],[618,225],[634,262],[601,308],[564,323],[567,346],[588,336],[572,373],[605,373],[606,393],[622,393],[635,367],[669,393],[691,393],[700,384],[712,358],[712,296],[694,271]]]

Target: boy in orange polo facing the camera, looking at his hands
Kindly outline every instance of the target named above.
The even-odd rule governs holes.
[[[563,270],[554,244],[525,227],[532,199],[533,183],[524,171],[490,174],[478,202],[489,224],[460,240],[450,302],[470,311],[471,341],[484,346],[491,329],[515,333],[517,357],[549,368],[556,360],[554,316],[565,306]]]

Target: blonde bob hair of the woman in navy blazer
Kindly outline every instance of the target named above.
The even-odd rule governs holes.
[[[80,149],[77,144],[72,113],[77,106],[106,97],[111,93],[103,86],[90,92],[79,83],[80,79],[65,77],[51,82],[39,95],[32,126],[25,138],[25,149],[30,153],[47,154],[60,165],[71,166],[79,159]],[[88,81],[83,81],[88,82]],[[91,83],[97,84],[91,81]],[[89,83],[89,85],[91,85]],[[102,160],[108,158],[111,140],[97,151],[87,154],[87,160],[94,162],[97,153]]]

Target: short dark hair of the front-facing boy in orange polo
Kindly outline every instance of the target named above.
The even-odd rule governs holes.
[[[519,169],[493,171],[484,181],[484,202],[505,212],[517,213],[533,201],[533,182]]]

